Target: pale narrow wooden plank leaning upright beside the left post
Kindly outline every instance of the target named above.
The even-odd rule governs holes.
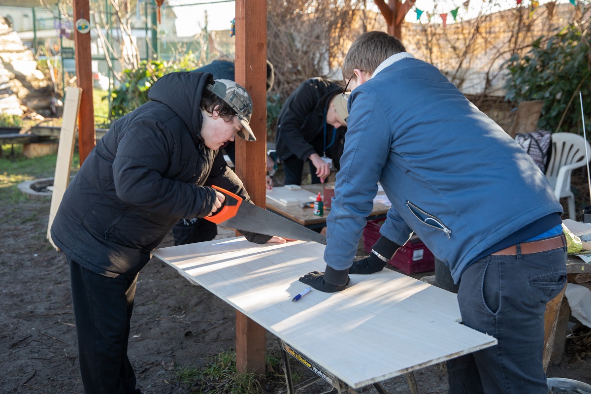
[[[60,207],[61,198],[66,193],[66,187],[70,181],[70,168],[74,154],[74,141],[76,141],[76,119],[80,109],[80,97],[82,89],[79,87],[66,87],[64,99],[64,115],[61,122],[60,144],[57,148],[56,175],[53,178],[53,191],[51,192],[51,206],[49,209],[49,222],[47,224],[47,239],[56,250],[56,244],[51,239],[51,224]]]

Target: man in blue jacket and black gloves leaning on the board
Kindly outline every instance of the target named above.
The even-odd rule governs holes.
[[[567,278],[563,209],[544,174],[436,67],[385,32],[355,40],[343,76],[352,93],[326,270],[300,281],[342,291],[349,273],[381,271],[414,232],[459,282],[462,323],[498,340],[448,362],[449,393],[547,394],[545,304]],[[392,207],[370,255],[355,258],[378,182]]]

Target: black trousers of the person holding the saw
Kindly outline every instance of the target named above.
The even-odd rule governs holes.
[[[68,264],[85,393],[141,393],[127,356],[138,276],[109,278],[73,260]]]

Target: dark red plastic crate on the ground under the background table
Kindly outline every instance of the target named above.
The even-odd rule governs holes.
[[[382,223],[384,223],[383,220],[370,220],[363,228],[363,250],[365,252],[371,253],[372,246],[379,238],[379,227],[382,226]],[[426,272],[435,269],[433,253],[420,240],[405,243],[397,250],[388,264],[404,273]]]

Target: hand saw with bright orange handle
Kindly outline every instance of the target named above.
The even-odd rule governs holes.
[[[242,200],[236,194],[221,187],[212,186],[226,196],[222,209],[205,219],[230,229],[252,233],[276,235],[302,241],[314,241],[326,245],[326,237],[285,217]]]

